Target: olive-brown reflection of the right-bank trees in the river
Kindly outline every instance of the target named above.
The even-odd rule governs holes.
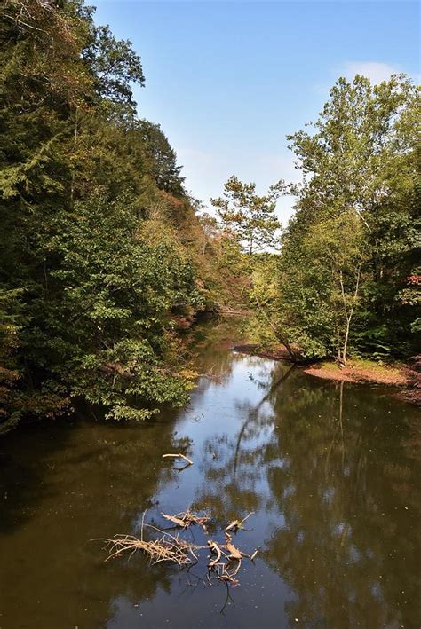
[[[408,426],[399,405],[385,422],[382,398],[373,407],[368,388],[313,384],[299,389],[296,405],[285,408],[285,390],[274,401],[283,413],[274,439],[289,468],[267,470],[285,525],[272,522],[265,559],[297,594],[288,604],[290,618],[412,626],[417,612],[399,593],[405,580],[415,596],[406,600],[416,600],[415,540],[393,507],[404,499],[393,486],[395,470],[402,467],[408,479],[415,473],[404,450]],[[378,580],[385,573],[389,578]]]

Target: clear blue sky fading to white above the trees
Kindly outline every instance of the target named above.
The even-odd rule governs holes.
[[[159,122],[187,189],[209,202],[231,175],[258,191],[297,179],[285,135],[314,120],[339,75],[419,80],[412,2],[91,0],[96,22],[130,39],[146,87],[139,115]],[[278,204],[282,223],[290,199]]]

